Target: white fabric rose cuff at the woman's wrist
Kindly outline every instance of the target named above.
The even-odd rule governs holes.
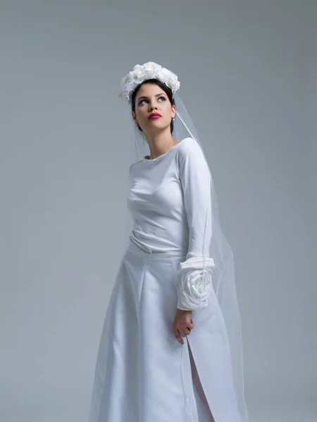
[[[180,269],[174,277],[178,290],[178,309],[196,311],[208,305],[214,267],[211,257],[190,257],[185,262],[180,262]]]

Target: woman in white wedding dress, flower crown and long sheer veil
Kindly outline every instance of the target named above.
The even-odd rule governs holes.
[[[179,87],[154,62],[121,82],[135,124],[133,226],[101,333],[89,422],[247,422],[232,255]]]

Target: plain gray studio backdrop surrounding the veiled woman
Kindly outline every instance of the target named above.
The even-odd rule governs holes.
[[[118,89],[149,60],[177,73],[211,165],[250,422],[316,421],[316,2],[0,7],[1,422],[87,421],[125,241]]]

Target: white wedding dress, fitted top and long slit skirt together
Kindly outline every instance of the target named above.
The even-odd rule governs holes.
[[[210,202],[209,170],[192,138],[130,167],[134,226],[101,333],[89,422],[242,421],[213,286],[208,302],[192,311],[183,345],[173,332],[176,308],[197,303],[178,288],[180,264],[189,262],[189,282]],[[207,225],[206,250],[211,236]]]

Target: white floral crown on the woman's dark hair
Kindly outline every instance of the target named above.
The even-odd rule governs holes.
[[[162,66],[157,63],[147,62],[144,63],[144,65],[135,65],[133,70],[121,79],[121,89],[118,96],[120,98],[127,98],[130,103],[132,92],[137,85],[147,79],[159,79],[173,91],[173,94],[180,88],[180,82],[175,73],[170,72],[170,70],[166,68],[162,68]]]

